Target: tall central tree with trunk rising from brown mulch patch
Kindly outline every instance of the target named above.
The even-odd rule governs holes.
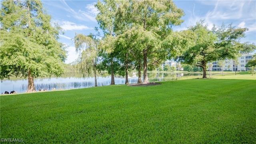
[[[172,0],[129,0],[118,6],[116,19],[124,25],[135,28],[138,44],[136,48],[143,56],[143,83],[148,83],[148,66],[163,60],[166,50],[162,39],[171,32],[172,26],[180,25],[183,10],[177,8]]]

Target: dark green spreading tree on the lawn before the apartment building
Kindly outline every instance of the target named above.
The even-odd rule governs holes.
[[[189,29],[196,34],[194,45],[189,46],[179,59],[183,63],[201,67],[203,78],[207,78],[207,62],[220,58],[236,59],[240,54],[252,52],[256,48],[254,44],[239,42],[247,28],[235,28],[230,24],[228,28],[222,25],[220,28],[214,27],[211,31],[204,21],[200,21]]]

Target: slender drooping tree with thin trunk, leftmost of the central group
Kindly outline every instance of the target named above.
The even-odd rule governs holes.
[[[83,34],[76,34],[74,38],[74,43],[76,46],[76,52],[81,52],[78,57],[77,64],[78,69],[83,73],[90,76],[92,72],[94,73],[94,86],[97,85],[97,62],[98,62],[98,46],[99,39],[96,35],[89,34],[85,36]]]

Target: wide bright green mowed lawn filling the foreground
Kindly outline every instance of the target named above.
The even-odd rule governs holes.
[[[33,144],[256,143],[256,80],[161,83],[2,95],[0,137]]]

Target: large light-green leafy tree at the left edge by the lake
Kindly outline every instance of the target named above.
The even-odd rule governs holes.
[[[34,92],[34,78],[64,72],[66,51],[58,42],[61,28],[52,26],[40,0],[4,0],[0,13],[1,79],[28,77],[27,92]]]

